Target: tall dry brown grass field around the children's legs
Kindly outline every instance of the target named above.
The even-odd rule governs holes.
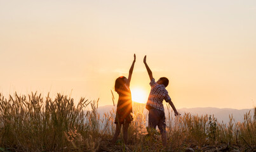
[[[168,146],[163,148],[158,131],[147,135],[144,107],[133,105],[128,144],[120,137],[111,145],[115,107],[100,118],[98,101],[76,103],[61,94],[55,99],[0,94],[0,151],[256,151],[256,114],[246,113],[238,123],[230,116],[229,124],[219,124],[208,115],[173,117],[169,107]]]

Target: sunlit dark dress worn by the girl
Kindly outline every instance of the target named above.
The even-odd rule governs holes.
[[[116,108],[115,124],[131,123],[133,117],[132,105],[131,105],[131,91],[130,88],[125,85],[121,91],[118,92],[118,106]]]

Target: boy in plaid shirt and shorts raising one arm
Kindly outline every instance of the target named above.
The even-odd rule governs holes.
[[[169,103],[173,111],[175,112],[175,116],[180,115],[176,110],[175,106],[172,103],[172,99],[168,95],[168,91],[166,91],[165,87],[169,84],[169,80],[166,77],[161,77],[157,82],[153,78],[152,72],[147,65],[146,62],[147,56],[144,57],[144,64],[147,68],[147,73],[149,73],[149,78],[151,82],[151,92],[149,94],[149,99],[147,100],[146,108],[149,110],[149,128],[158,129],[161,132],[163,146],[166,146],[166,124],[165,124],[165,109],[163,107],[163,100]]]

